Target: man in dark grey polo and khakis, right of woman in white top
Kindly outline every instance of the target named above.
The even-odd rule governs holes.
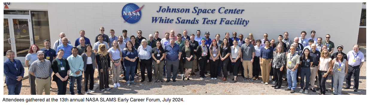
[[[240,36],[240,35],[239,35]],[[247,37],[245,38],[245,44],[241,45],[240,49],[241,49],[241,56],[240,58],[242,60],[240,60],[241,62],[243,62],[243,68],[244,68],[244,81],[249,79],[251,82],[253,82],[253,60],[254,60],[254,54],[255,54],[255,49],[254,46],[252,45],[252,43],[249,43],[250,38]]]

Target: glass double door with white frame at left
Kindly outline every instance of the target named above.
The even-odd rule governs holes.
[[[29,46],[33,45],[31,20],[23,16],[4,15],[4,56],[7,50],[15,51],[15,58],[25,60]],[[6,58],[4,58],[6,60]],[[23,62],[23,61],[22,61]]]

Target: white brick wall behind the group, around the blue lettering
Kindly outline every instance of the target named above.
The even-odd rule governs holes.
[[[15,3],[14,3],[15,4]],[[115,30],[115,35],[122,35],[123,29],[128,30],[129,35],[137,35],[137,30],[142,30],[143,36],[148,37],[154,31],[159,31],[160,38],[164,33],[174,30],[182,34],[184,29],[189,34],[195,34],[201,30],[210,32],[210,38],[215,34],[224,37],[226,32],[236,31],[237,34],[248,35],[253,33],[255,39],[263,39],[263,34],[268,33],[269,39],[277,39],[285,31],[289,32],[289,38],[300,37],[301,31],[306,31],[306,38],[310,37],[312,30],[316,31],[316,37],[325,39],[326,34],[331,35],[331,41],[345,47],[344,52],[352,50],[357,42],[361,3],[135,3],[139,7],[143,4],[142,18],[136,24],[124,23],[121,18],[121,9],[127,3],[17,3],[23,7],[19,9],[47,9],[49,12],[51,41],[59,39],[59,34],[64,32],[74,45],[79,37],[79,30],[85,30],[86,37],[91,42],[99,34],[99,27],[105,27],[105,34],[110,29]],[[26,6],[24,6],[26,5]],[[162,8],[189,8],[190,13],[162,13],[156,12]],[[13,7],[13,8],[14,8]],[[216,9],[214,14],[191,13],[194,7],[202,9]],[[245,9],[243,14],[220,14],[218,9]],[[223,10],[223,9],[222,9]],[[152,17],[167,17],[174,19],[174,23],[152,23]],[[199,24],[176,24],[176,18],[199,19]],[[202,18],[217,19],[217,24],[202,24]],[[220,18],[235,20],[243,18],[250,20],[246,27],[242,25],[219,24]],[[224,23],[224,22],[223,22]],[[231,35],[230,35],[231,36]],[[335,49],[336,52],[336,49]]]

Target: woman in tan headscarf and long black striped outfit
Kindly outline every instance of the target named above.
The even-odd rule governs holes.
[[[110,90],[109,87],[109,70],[110,70],[110,56],[107,53],[105,44],[98,45],[96,53],[96,62],[99,70],[99,83],[101,91]]]

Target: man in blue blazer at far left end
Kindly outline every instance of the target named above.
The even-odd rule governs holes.
[[[8,95],[19,95],[22,87],[24,68],[20,60],[14,59],[13,50],[6,52],[7,60],[4,61],[5,83],[8,87]]]

